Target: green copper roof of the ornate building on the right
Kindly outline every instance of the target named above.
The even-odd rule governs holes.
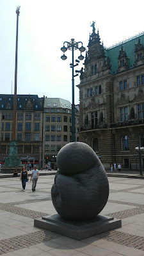
[[[123,46],[124,51],[127,54],[127,58],[129,58],[129,68],[134,67],[134,61],[135,61],[135,44],[138,44],[138,40],[140,38],[140,43],[144,45],[144,33],[142,33],[140,36],[137,36],[136,38],[129,39],[125,42],[122,42],[122,44],[116,45],[114,47],[111,47],[109,49],[104,49],[106,53],[106,57],[109,56],[111,62],[111,74],[116,74],[118,69],[118,55],[119,52]]]

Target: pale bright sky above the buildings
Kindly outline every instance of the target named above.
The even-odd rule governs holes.
[[[17,6],[20,6],[17,94],[45,95],[72,102],[72,51],[65,53],[67,60],[61,60],[63,42],[74,38],[88,49],[93,21],[105,47],[144,30],[143,0],[0,0],[1,94],[14,93]],[[79,55],[78,49],[74,51],[74,60]],[[84,67],[83,63],[76,69]],[[79,104],[77,84],[79,76],[75,77],[75,104]]]

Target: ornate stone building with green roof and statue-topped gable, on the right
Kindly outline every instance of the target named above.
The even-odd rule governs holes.
[[[144,146],[144,34],[106,49],[94,23],[78,86],[79,140],[107,168],[136,168],[135,147]]]

